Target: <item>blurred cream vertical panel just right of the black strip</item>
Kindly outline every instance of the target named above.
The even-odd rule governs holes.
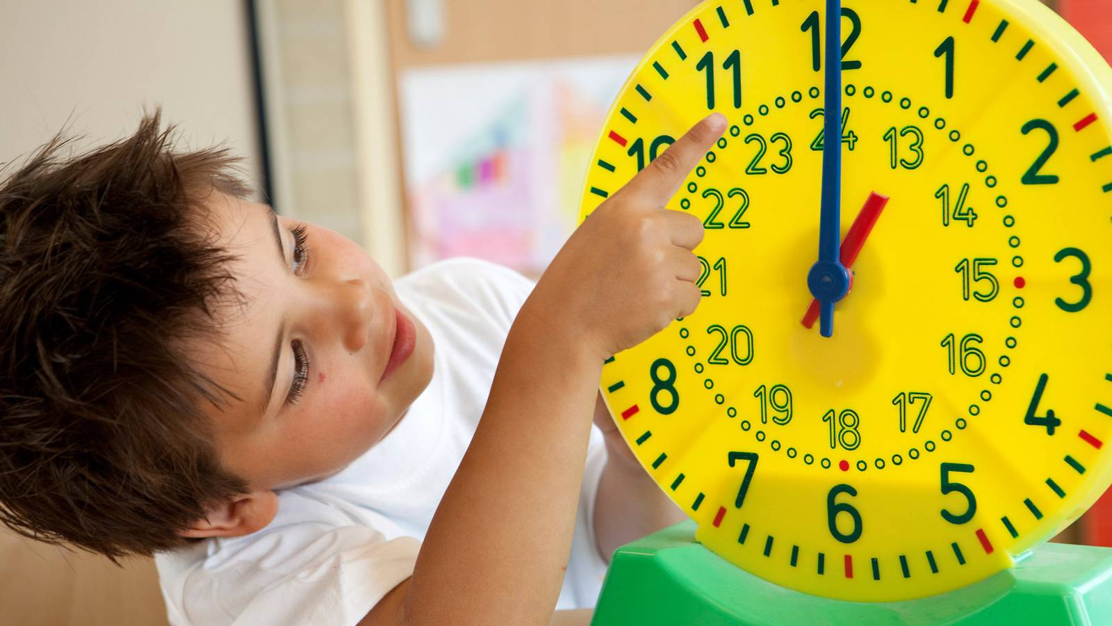
[[[406,272],[393,75],[377,0],[258,0],[276,206]]]

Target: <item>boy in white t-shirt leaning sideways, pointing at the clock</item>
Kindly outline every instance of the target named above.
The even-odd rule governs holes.
[[[173,624],[592,606],[607,555],[682,517],[597,385],[698,303],[702,224],[664,205],[725,124],[614,194],[535,287],[474,261],[391,285],[245,200],[225,150],[175,153],[158,114],[72,159],[51,141],[0,185],[0,519],[158,552]]]

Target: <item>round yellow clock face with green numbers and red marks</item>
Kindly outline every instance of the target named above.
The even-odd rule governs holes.
[[[820,2],[705,2],[642,61],[583,215],[717,110],[668,205],[703,219],[703,301],[602,389],[696,538],[853,600],[1009,567],[1110,480],[1112,71],[1033,0],[845,0],[842,225],[890,200],[834,336],[818,241]]]

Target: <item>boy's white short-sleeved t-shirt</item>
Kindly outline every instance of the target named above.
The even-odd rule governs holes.
[[[413,574],[533,284],[505,267],[454,260],[395,287],[433,335],[428,389],[386,438],[342,471],[280,491],[278,515],[262,530],[159,554],[175,626],[353,625]],[[602,434],[593,428],[559,609],[594,606],[606,571],[592,522],[605,462]],[[459,575],[467,576],[467,564],[459,564]]]

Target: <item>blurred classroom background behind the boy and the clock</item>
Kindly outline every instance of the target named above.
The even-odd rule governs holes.
[[[458,255],[537,275],[574,228],[610,100],[696,3],[8,0],[0,164],[62,128],[122,137],[160,105],[185,145],[228,145],[259,199],[393,276]],[[1112,58],[1112,0],[1048,3]],[[1112,545],[1112,503],[1063,535]],[[149,559],[0,530],[0,624],[166,617]]]

